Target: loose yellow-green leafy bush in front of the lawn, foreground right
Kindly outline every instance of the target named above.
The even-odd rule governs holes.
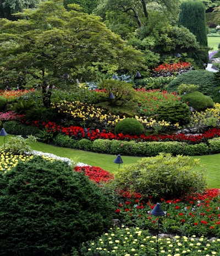
[[[197,160],[180,155],[172,157],[168,153],[142,158],[135,164],[123,166],[115,175],[116,184],[153,199],[180,198],[205,189],[204,171],[195,171],[199,166]]]

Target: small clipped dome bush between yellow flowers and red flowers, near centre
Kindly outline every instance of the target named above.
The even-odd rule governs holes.
[[[140,136],[144,134],[144,126],[134,118],[125,118],[114,127],[115,134]]]

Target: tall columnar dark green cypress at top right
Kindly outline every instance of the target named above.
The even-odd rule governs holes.
[[[178,25],[188,28],[201,46],[207,46],[206,10],[202,2],[183,2],[180,5]]]

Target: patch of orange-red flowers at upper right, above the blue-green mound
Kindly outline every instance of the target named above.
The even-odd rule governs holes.
[[[191,68],[190,62],[183,62],[180,61],[178,63],[168,64],[163,63],[162,65],[158,65],[157,67],[153,68],[153,74],[163,74],[169,73],[169,76],[173,76],[180,71],[188,71]]]

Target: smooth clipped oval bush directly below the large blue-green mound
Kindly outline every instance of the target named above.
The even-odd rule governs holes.
[[[184,94],[182,100],[196,111],[204,111],[207,108],[213,108],[214,105],[211,97],[196,91]]]

